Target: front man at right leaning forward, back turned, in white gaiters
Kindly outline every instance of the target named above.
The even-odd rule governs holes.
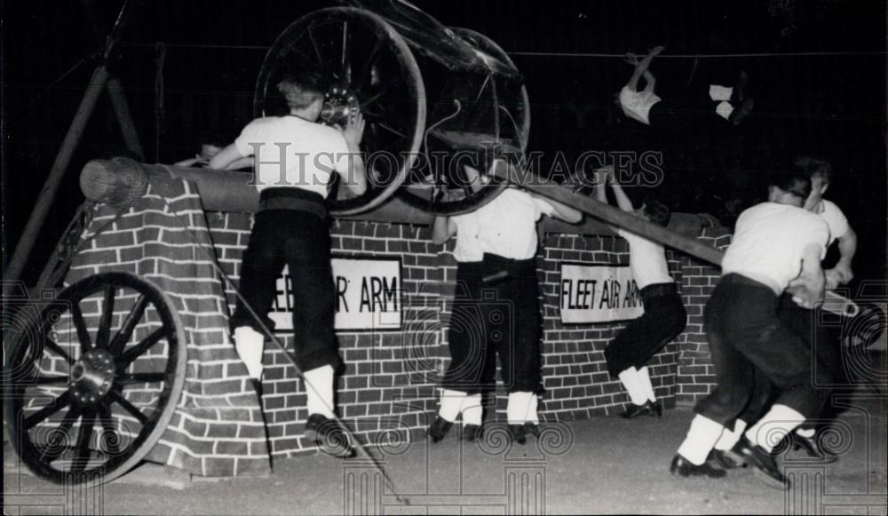
[[[824,295],[821,259],[829,228],[803,208],[810,192],[808,174],[794,167],[773,179],[768,202],[737,219],[721,281],[703,314],[717,385],[694,409],[697,415],[670,465],[675,475],[725,476],[708,461],[710,452],[726,431],[742,431],[735,426],[737,417],[755,392],[757,377],[766,377],[779,395],[732,450],[774,487],[788,486],[771,455],[779,441],[774,437],[819,414],[825,397],[813,387],[812,375],[829,380],[819,362],[812,370],[810,347],[777,314],[785,290],[806,307]]]

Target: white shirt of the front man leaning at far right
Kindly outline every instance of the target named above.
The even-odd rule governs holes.
[[[817,244],[826,255],[829,228],[810,211],[762,202],[737,218],[733,241],[722,260],[722,274],[742,274],[780,295],[801,273],[805,247]]]

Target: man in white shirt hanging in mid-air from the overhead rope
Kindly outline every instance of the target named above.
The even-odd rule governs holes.
[[[709,85],[709,100],[689,99],[686,106],[678,106],[676,102],[667,102],[657,96],[656,77],[649,67],[654,57],[665,49],[656,46],[641,60],[635,54],[626,54],[626,62],[635,67],[629,82],[622,87],[618,95],[618,102],[622,112],[638,123],[644,123],[654,128],[680,130],[689,127],[686,123],[688,115],[694,115],[698,105],[712,106],[712,112],[733,125],[740,125],[743,119],[752,112],[753,100],[743,95],[743,88],[747,83],[745,73],[739,75],[737,83],[732,86],[720,84]],[[638,90],[641,78],[645,79],[645,87]],[[734,107],[739,103],[740,107]],[[705,108],[707,111],[709,108]]]

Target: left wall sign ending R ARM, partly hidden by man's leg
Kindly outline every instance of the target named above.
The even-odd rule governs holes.
[[[332,263],[336,329],[400,329],[399,259],[333,258]],[[291,292],[296,288],[284,267],[268,314],[275,331],[293,329]]]

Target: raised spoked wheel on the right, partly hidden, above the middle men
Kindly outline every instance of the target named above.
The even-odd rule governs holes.
[[[488,36],[471,28],[451,27],[450,30],[465,44],[515,68],[509,54]],[[519,164],[524,158],[524,151],[527,150],[527,139],[530,134],[530,99],[527,97],[525,85],[492,77],[485,81],[476,102],[493,107],[494,112],[491,117],[494,120],[490,126],[495,128],[495,135],[432,129],[429,131],[429,138],[444,141],[448,147],[456,149],[477,147],[479,140],[493,140],[502,144],[504,161]],[[428,149],[426,151],[428,152]],[[451,169],[459,166],[458,163],[450,164]],[[440,174],[443,171],[434,173]],[[398,191],[398,196],[411,206],[440,215],[458,215],[477,210],[492,201],[508,186],[502,180],[494,178],[489,170],[480,171],[480,174],[484,185],[480,190],[468,187],[464,183],[455,185],[453,182],[447,187],[442,187],[442,183],[446,181],[430,177],[415,183],[409,182]]]

